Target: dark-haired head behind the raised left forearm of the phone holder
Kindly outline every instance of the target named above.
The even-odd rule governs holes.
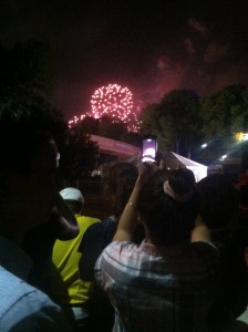
[[[120,218],[137,179],[137,167],[128,162],[115,162],[104,170],[105,195],[111,197],[113,215]]]

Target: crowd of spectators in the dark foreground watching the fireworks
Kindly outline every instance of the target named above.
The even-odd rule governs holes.
[[[248,227],[228,176],[118,160],[112,214],[93,218],[83,188],[56,181],[65,131],[39,104],[0,108],[0,331],[248,331]]]

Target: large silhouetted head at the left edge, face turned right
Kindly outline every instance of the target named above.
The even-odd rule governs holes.
[[[21,241],[25,231],[49,219],[65,128],[63,117],[42,101],[1,103],[1,235]]]

